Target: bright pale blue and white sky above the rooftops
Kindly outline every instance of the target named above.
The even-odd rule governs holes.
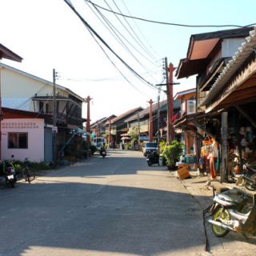
[[[110,30],[106,30],[85,1],[71,2],[111,48],[152,84],[162,82],[162,58],[167,57],[168,62],[178,66],[179,59],[186,57],[191,34],[230,29],[166,26],[138,20],[134,22],[127,18],[143,43],[141,48],[114,14],[102,10],[104,17],[120,32],[122,41],[130,49],[128,52],[113,38]],[[103,0],[92,2],[106,8],[110,6],[116,11],[118,6],[123,14],[128,14],[129,10],[132,16],[162,22],[240,26],[256,22],[256,2],[253,0],[106,0],[109,6]],[[88,95],[94,98],[91,107],[93,121],[111,114],[122,114],[137,106],[146,107],[150,98],[156,101],[157,90],[135,78],[105,49],[118,70],[130,81],[126,82],[64,1],[0,0],[0,6],[0,42],[23,58],[22,63],[2,62],[50,81],[52,69],[55,68],[60,74],[58,84],[83,98]],[[126,24],[124,19],[122,22]],[[174,86],[174,94],[195,86],[194,78],[178,82],[180,85]],[[164,93],[161,98],[166,98]]]

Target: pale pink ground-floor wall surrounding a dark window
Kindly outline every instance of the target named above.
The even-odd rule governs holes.
[[[8,149],[8,132],[28,133],[27,149]],[[23,161],[29,158],[31,162],[44,161],[44,119],[41,118],[15,118],[2,121],[2,159]]]

